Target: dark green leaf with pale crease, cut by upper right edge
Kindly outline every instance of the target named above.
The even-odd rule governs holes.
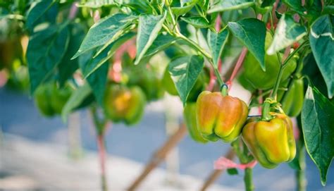
[[[334,35],[330,16],[322,16],[311,26],[309,33],[314,58],[325,79],[328,97],[334,93]]]

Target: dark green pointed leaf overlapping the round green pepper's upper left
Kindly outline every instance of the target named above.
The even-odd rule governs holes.
[[[256,18],[245,18],[237,22],[228,22],[233,35],[240,39],[242,44],[259,61],[262,70],[266,70],[264,63],[264,42],[266,39],[266,26]]]

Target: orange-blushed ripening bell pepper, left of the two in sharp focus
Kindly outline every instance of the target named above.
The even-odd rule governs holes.
[[[197,128],[205,139],[232,142],[241,133],[248,108],[244,101],[236,97],[204,91],[197,99],[196,114]]]

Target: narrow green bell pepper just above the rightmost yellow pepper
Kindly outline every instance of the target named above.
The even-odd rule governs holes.
[[[279,91],[277,99],[287,116],[298,116],[304,102],[304,80],[302,78],[292,79],[287,92]]]

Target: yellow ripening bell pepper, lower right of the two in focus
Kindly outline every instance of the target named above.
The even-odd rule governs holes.
[[[275,168],[296,155],[292,121],[288,116],[272,113],[270,121],[250,118],[242,129],[242,140],[261,166]]]

